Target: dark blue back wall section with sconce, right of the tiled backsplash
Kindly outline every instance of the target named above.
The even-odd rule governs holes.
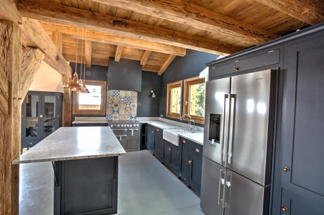
[[[137,117],[158,117],[161,76],[156,72],[142,72],[142,91],[137,97]],[[156,95],[152,98],[151,90]]]

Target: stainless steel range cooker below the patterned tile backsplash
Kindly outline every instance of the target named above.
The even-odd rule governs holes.
[[[140,123],[137,121],[111,121],[108,122],[113,133],[125,151],[140,150]]]

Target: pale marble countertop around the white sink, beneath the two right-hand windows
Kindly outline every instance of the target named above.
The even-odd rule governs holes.
[[[147,123],[150,124],[152,126],[155,126],[157,128],[160,129],[183,129],[183,130],[188,130],[187,127],[183,127],[183,126],[179,126],[176,124],[172,124],[172,123],[167,123],[164,121],[159,121],[159,120],[138,120],[141,123]],[[188,140],[191,140],[195,143],[198,143],[200,145],[204,145],[204,132],[202,131],[197,131],[194,133],[181,133],[178,134],[178,136],[184,137]]]

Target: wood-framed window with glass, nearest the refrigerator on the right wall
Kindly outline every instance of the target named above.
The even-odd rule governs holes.
[[[184,80],[183,114],[188,114],[197,123],[204,124],[206,76]],[[185,117],[185,120],[189,120]]]

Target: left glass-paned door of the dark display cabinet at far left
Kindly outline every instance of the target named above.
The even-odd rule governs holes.
[[[22,104],[22,140],[41,140],[41,103],[41,93],[27,93]]]

